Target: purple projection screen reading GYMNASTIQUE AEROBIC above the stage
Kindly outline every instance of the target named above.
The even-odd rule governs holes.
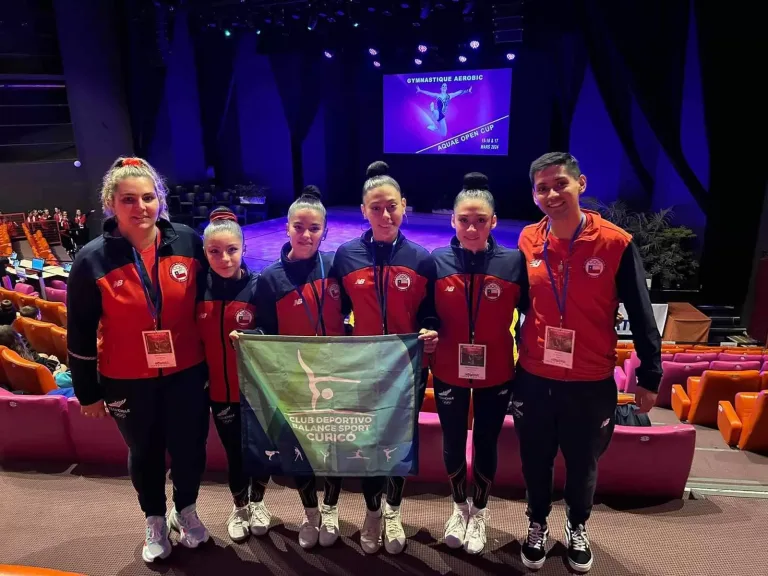
[[[482,80],[453,81],[456,76],[479,75],[482,75]],[[416,92],[416,87],[419,86],[422,90],[439,93],[442,82],[434,80],[415,83],[414,80],[448,76],[452,78],[447,82],[449,93],[466,90],[470,86],[472,93],[462,94],[450,100],[445,113],[447,131],[443,136],[440,132],[427,128],[430,124],[430,103],[435,101],[435,98]],[[409,79],[411,83],[408,82]],[[384,152],[506,156],[509,145],[511,91],[510,68],[385,75]],[[492,121],[492,130],[471,137],[472,131],[480,131],[481,127]],[[466,134],[467,132],[469,134]],[[458,143],[455,138],[458,138]],[[494,141],[483,142],[484,138]],[[482,149],[483,145],[498,148]]]

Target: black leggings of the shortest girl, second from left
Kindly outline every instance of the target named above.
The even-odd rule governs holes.
[[[269,474],[248,477],[243,470],[243,440],[240,431],[240,404],[213,402],[213,421],[219,433],[224,451],[227,453],[227,474],[229,489],[235,506],[245,506],[248,502],[261,502],[269,483]]]

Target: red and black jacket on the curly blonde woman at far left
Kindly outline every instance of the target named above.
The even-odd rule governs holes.
[[[141,333],[155,325],[133,247],[119,236],[117,221],[110,218],[104,223],[104,234],[78,252],[69,273],[69,365],[75,393],[83,405],[103,398],[103,384],[108,379],[156,378],[205,360],[195,324],[197,275],[207,268],[202,240],[191,228],[162,218],[157,227],[157,259],[153,251],[143,260],[141,273],[159,292],[157,329],[171,331],[176,367],[158,370],[147,366]],[[154,284],[155,263],[159,286]]]

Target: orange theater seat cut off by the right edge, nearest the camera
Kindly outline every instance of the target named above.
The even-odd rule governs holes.
[[[717,408],[717,428],[729,446],[768,452],[768,392],[739,392]]]

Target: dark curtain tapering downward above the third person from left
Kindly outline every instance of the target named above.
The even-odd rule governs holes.
[[[302,144],[324,96],[321,57],[319,50],[271,54],[269,57],[291,132],[293,188],[297,196],[304,187]]]

